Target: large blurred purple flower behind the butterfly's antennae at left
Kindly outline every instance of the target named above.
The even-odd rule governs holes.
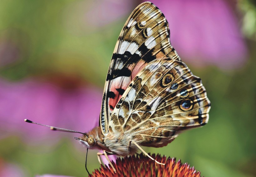
[[[92,86],[63,89],[47,82],[0,80],[1,137],[26,136],[41,141],[68,133],[24,122],[30,119],[45,125],[87,132],[98,125],[102,93]],[[47,137],[46,137],[47,136]]]

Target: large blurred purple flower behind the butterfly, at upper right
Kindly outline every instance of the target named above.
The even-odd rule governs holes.
[[[171,43],[181,59],[223,69],[245,62],[246,46],[231,7],[223,0],[162,0],[152,2],[170,24]],[[235,2],[233,2],[235,3]]]

